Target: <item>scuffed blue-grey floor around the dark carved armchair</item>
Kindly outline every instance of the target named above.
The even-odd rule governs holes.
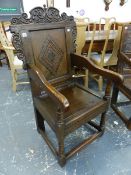
[[[131,116],[131,106],[125,111]],[[0,67],[0,175],[131,175],[131,131],[110,109],[105,134],[61,168],[36,131],[29,85],[11,89],[7,66]],[[118,122],[118,125],[114,124]],[[84,137],[84,127],[68,140]]]

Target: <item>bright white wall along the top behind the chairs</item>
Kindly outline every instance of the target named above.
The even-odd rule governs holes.
[[[91,21],[98,21],[100,17],[116,17],[118,22],[131,21],[131,0],[120,6],[120,0],[113,0],[109,10],[105,11],[104,0],[70,0],[70,8],[66,8],[66,0],[54,0],[54,6],[60,12],[68,15],[79,16],[79,11],[85,11],[84,17],[89,17]],[[43,6],[46,0],[23,0],[25,12],[36,6]],[[76,12],[78,11],[78,12]]]

